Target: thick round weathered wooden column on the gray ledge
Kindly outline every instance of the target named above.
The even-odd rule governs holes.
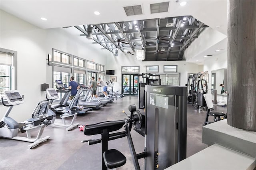
[[[256,0],[228,1],[228,125],[256,131]]]

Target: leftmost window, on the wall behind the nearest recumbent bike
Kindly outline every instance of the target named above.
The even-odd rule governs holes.
[[[4,91],[17,89],[17,52],[1,48],[0,52],[0,97]]]

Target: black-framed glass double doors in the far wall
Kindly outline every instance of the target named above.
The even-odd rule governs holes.
[[[122,74],[122,94],[138,95],[138,75]]]

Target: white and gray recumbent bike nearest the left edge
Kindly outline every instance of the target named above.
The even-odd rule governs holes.
[[[4,94],[6,95],[7,101],[4,101],[4,99],[1,98],[2,103],[4,106],[9,108],[2,118],[0,128],[1,137],[33,142],[32,144],[28,145],[28,148],[30,149],[48,140],[50,136],[45,136],[44,138],[41,138],[41,136],[44,131],[44,127],[50,125],[50,120],[52,119],[52,116],[45,117],[48,111],[49,102],[40,101],[33,111],[32,118],[22,122],[24,126],[20,128],[19,123],[17,123],[11,117],[8,117],[8,115],[10,114],[13,106],[24,103],[23,97],[21,97],[20,93],[16,90],[5,91]],[[21,132],[26,132],[27,137],[17,136],[19,130]],[[31,132],[35,130],[38,130],[38,134],[36,138],[32,138]]]

